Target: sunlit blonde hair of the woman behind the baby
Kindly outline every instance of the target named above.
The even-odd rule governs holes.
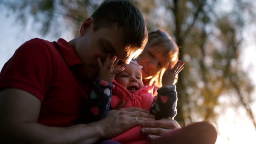
[[[158,29],[154,32],[150,32],[148,35],[148,43],[145,48],[152,47],[154,45],[160,45],[164,48],[164,54],[166,54],[170,60],[172,61],[172,66],[178,62],[178,54],[179,48],[176,42],[171,38],[171,36],[164,30]],[[160,88],[162,86],[162,76],[166,68],[168,68],[168,64],[164,66],[160,71],[158,71],[152,78],[148,79],[148,85],[156,86]],[[175,83],[178,80],[178,76],[176,76]]]

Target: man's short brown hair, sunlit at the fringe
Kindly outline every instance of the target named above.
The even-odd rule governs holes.
[[[129,0],[105,0],[92,14],[94,31],[117,24],[123,30],[127,57],[136,58],[148,42],[148,31],[140,10]]]

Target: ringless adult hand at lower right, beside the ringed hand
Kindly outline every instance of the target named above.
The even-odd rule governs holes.
[[[148,140],[154,140],[162,135],[180,128],[180,125],[175,120],[154,120],[147,121],[141,124],[141,134],[148,134]]]

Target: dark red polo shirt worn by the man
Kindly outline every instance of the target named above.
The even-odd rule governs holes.
[[[18,88],[36,96],[41,101],[39,123],[71,126],[87,98],[83,76],[82,62],[66,40],[54,44],[34,38],[4,64],[0,89]]]

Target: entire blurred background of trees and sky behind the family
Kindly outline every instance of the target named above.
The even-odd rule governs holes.
[[[71,40],[103,0],[0,0],[0,70],[24,42]],[[210,121],[216,144],[256,143],[256,0],[132,0],[148,31],[180,47],[181,125]]]

